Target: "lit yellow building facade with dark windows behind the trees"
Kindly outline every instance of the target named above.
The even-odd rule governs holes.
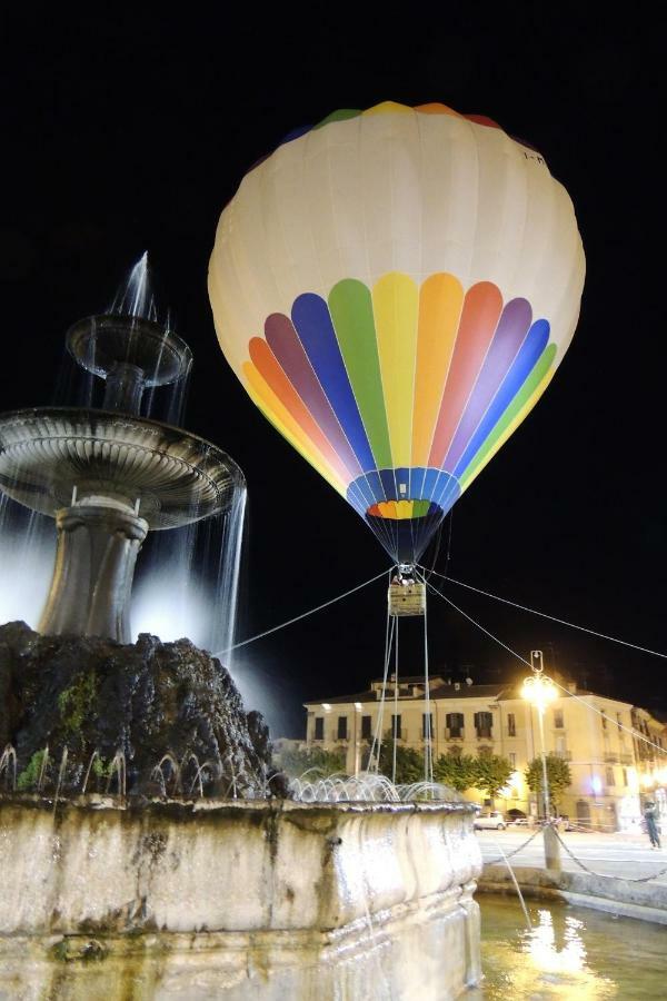
[[[545,750],[565,759],[573,776],[559,809],[573,821],[597,830],[638,829],[641,805],[653,799],[667,821],[667,729],[646,710],[577,691],[563,682],[563,695],[545,712]],[[424,677],[382,681],[355,695],[306,703],[306,745],[345,749],[349,773],[359,770],[364,749],[376,731],[424,751],[429,726]],[[491,753],[507,757],[512,774],[496,797],[507,812],[537,813],[536,795],[525,781],[528,763],[540,754],[537,711],[517,686],[476,685],[434,676],[429,683],[434,761],[441,754]],[[651,743],[646,743],[646,737]],[[484,794],[466,797],[484,803]],[[487,801],[488,802],[488,801]]]

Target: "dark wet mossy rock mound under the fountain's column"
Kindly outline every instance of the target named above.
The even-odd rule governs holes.
[[[189,640],[122,645],[0,626],[0,749],[18,791],[283,795],[268,729]],[[13,785],[6,755],[0,791]]]

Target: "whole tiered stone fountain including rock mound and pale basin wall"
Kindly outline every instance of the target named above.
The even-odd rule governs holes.
[[[140,416],[191,360],[155,317],[67,344],[102,407],[0,417],[0,488],[58,532],[39,631],[0,626],[0,997],[458,997],[479,979],[472,807],[295,802],[215,657],[130,643],[146,534],[220,512],[242,475]]]

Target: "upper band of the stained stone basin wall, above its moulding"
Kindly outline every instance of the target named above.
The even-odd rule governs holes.
[[[42,807],[0,801],[2,934],[336,929],[481,870],[464,804]]]

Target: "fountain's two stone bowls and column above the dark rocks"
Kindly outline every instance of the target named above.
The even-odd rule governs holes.
[[[147,533],[219,513],[243,477],[209,442],[139,416],[147,388],[190,368],[190,349],[175,333],[141,316],[92,316],[74,324],[67,346],[104,380],[102,408],[2,415],[0,489],[56,519],[56,568],[39,632],[129,643],[132,577]]]

